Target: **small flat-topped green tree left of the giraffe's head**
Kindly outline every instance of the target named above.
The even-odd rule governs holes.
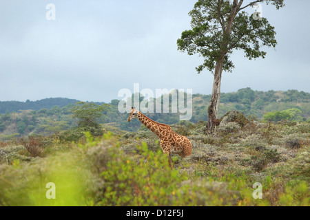
[[[110,104],[76,102],[76,105],[72,107],[72,113],[74,113],[73,117],[79,120],[78,128],[81,131],[90,131],[93,136],[103,135],[99,120],[103,116],[103,111],[109,106]]]

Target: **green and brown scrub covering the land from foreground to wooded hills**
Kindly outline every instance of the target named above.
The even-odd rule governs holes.
[[[173,170],[158,137],[138,120],[128,123],[116,100],[3,113],[2,132],[20,122],[25,135],[2,136],[0,205],[309,206],[309,94],[240,89],[222,99],[214,135],[205,135],[200,118],[166,122],[193,145],[191,156],[172,157]],[[194,117],[202,117],[204,100],[193,96]],[[170,116],[177,118],[156,120]],[[50,182],[56,199],[46,197]],[[255,183],[262,199],[254,199]]]

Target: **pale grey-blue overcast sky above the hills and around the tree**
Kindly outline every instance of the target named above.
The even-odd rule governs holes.
[[[245,0],[247,3],[248,0]],[[56,20],[46,19],[48,3]],[[196,55],[178,52],[196,0],[0,0],[0,101],[75,98],[110,102],[120,89],[192,89],[211,94],[213,75],[195,67]],[[310,92],[310,1],[285,8],[262,4],[278,45],[265,59],[234,52],[222,92]],[[249,8],[249,12],[254,9]],[[121,98],[118,98],[121,99]]]

